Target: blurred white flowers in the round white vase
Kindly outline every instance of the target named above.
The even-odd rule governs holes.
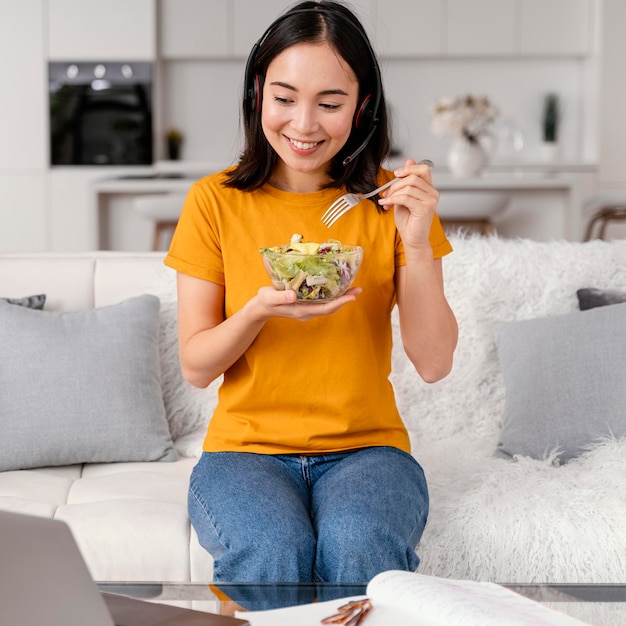
[[[432,130],[436,135],[456,135],[478,140],[499,115],[487,96],[443,96],[432,108]]]

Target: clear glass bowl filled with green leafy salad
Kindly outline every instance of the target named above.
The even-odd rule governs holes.
[[[324,302],[343,295],[352,285],[363,248],[330,239],[304,242],[294,234],[284,246],[261,248],[265,269],[276,289],[292,289],[298,302]]]

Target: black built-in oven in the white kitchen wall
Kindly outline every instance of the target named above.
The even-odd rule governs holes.
[[[152,63],[48,64],[51,165],[152,163]]]

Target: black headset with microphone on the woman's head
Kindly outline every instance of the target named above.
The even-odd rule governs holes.
[[[258,112],[261,110],[261,101],[263,96],[263,80],[264,77],[254,71],[254,65],[256,64],[256,58],[259,51],[259,48],[263,45],[267,37],[270,33],[284,20],[293,15],[297,15],[299,13],[318,13],[318,14],[326,14],[330,15],[334,13],[332,9],[325,6],[316,6],[309,9],[292,9],[287,11],[283,15],[279,16],[268,29],[261,35],[260,39],[254,44],[250,54],[248,55],[248,60],[246,61],[246,69],[244,74],[245,80],[245,97],[247,100],[247,110]],[[334,15],[341,16],[341,19],[346,20],[346,18],[341,13],[334,13]],[[350,26],[354,27],[354,24],[350,22]],[[358,146],[358,148],[348,155],[342,162],[343,165],[347,165],[351,161],[353,161],[367,146],[370,142],[370,139],[373,137],[374,132],[376,131],[376,127],[378,126],[378,110],[380,108],[380,102],[382,99],[382,79],[380,76],[380,68],[378,66],[378,60],[376,59],[376,55],[374,54],[374,50],[367,38],[367,35],[360,28],[356,29],[367,50],[370,55],[372,68],[374,70],[374,78],[376,82],[375,90],[372,93],[367,94],[359,106],[356,108],[356,112],[354,114],[352,126],[353,130],[357,131],[359,135],[365,135],[364,140]]]

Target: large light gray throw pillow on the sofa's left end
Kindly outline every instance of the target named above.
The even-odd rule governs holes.
[[[0,302],[0,471],[173,461],[159,299],[84,311]]]

